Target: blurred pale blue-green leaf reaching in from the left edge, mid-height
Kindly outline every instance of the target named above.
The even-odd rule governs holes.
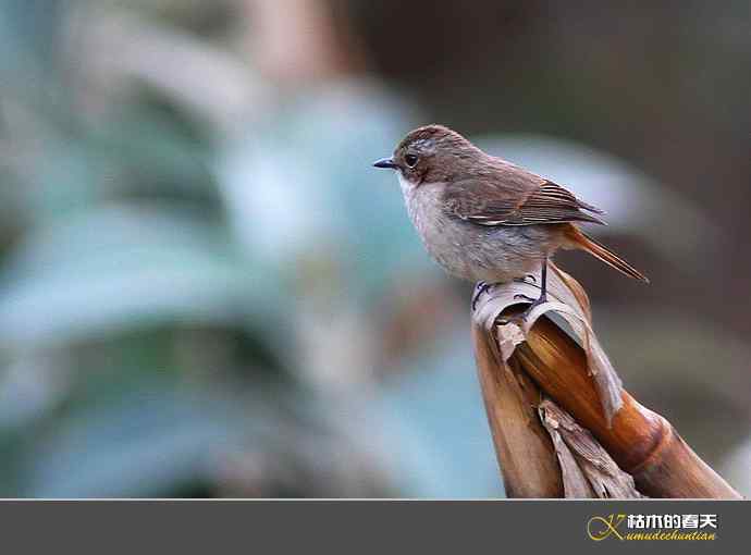
[[[0,336],[29,348],[145,322],[268,319],[274,280],[216,230],[152,208],[110,207],[40,229],[0,287]]]

